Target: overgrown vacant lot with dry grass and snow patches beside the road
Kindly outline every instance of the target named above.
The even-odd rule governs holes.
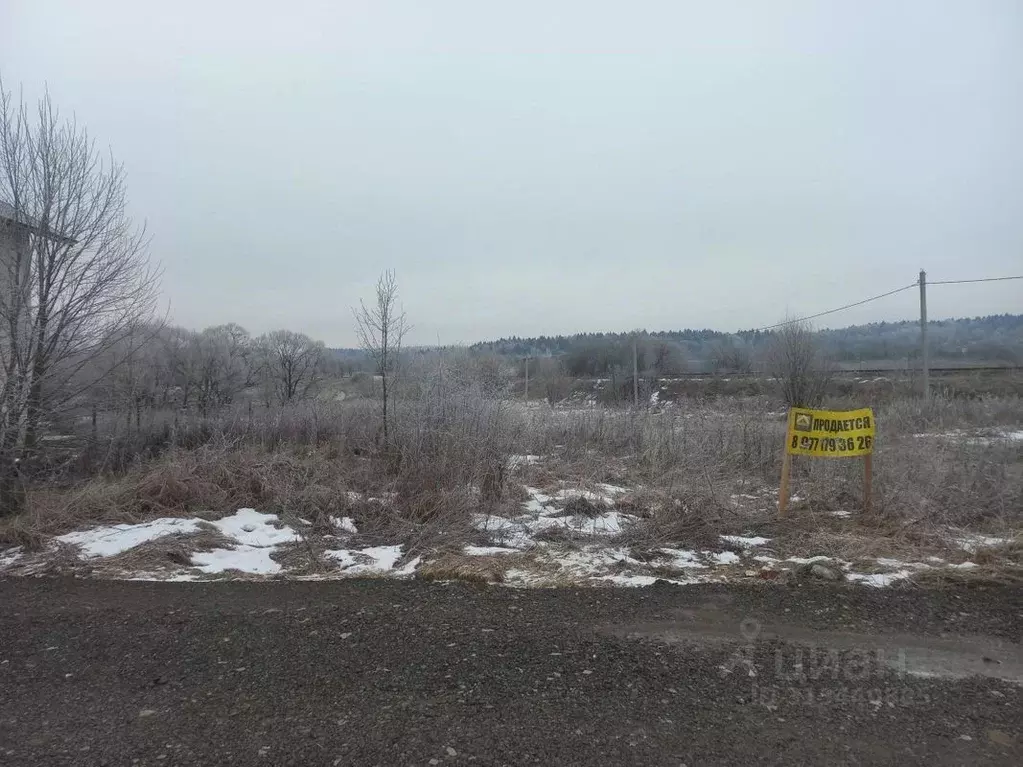
[[[540,586],[1018,583],[1020,400],[864,391],[829,405],[873,399],[873,513],[858,459],[799,459],[785,520],[781,401],[679,396],[670,382],[636,410],[526,404],[473,378],[420,378],[394,405],[386,449],[367,399],[153,422],[78,447],[69,436],[63,479],[30,488],[28,510],[0,526],[0,569]]]

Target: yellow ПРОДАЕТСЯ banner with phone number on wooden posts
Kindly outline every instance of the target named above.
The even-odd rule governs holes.
[[[789,411],[786,449],[792,455],[819,458],[848,458],[874,452],[874,411],[809,410]]]

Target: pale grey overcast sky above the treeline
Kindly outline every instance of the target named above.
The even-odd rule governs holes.
[[[0,0],[0,72],[126,164],[193,327],[351,345],[386,268],[445,344],[1023,273],[1018,0]]]

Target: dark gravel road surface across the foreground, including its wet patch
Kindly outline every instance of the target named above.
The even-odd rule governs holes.
[[[0,581],[2,765],[1023,764],[1019,590]]]

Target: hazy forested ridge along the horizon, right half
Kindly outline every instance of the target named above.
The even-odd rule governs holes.
[[[964,364],[1023,364],[1023,315],[937,320],[928,323],[931,357]],[[641,331],[644,368],[661,374],[721,370],[744,371],[757,366],[771,331],[719,330]],[[913,321],[872,322],[827,329],[820,339],[829,356],[842,366],[885,361],[892,367],[913,366],[920,356],[920,324]],[[557,357],[570,375],[601,375],[630,364],[631,334],[592,332],[574,335],[509,337],[475,344],[478,353],[505,357]]]

